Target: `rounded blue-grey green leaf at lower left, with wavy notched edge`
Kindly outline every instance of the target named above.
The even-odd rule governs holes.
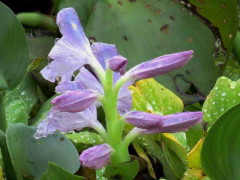
[[[80,166],[74,145],[60,133],[35,139],[35,127],[13,124],[7,129],[7,145],[19,179],[40,178],[47,170],[48,161],[71,173]]]

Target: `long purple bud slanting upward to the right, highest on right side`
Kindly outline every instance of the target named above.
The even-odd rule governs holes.
[[[160,56],[133,67],[126,74],[132,79],[146,79],[166,74],[187,64],[192,54],[191,50]]]

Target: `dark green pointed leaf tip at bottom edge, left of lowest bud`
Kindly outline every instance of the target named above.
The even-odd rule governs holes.
[[[48,162],[47,172],[41,177],[41,180],[83,180],[81,176],[75,176],[58,165]]]

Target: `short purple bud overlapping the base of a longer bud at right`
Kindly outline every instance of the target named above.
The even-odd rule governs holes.
[[[162,116],[141,111],[129,112],[126,121],[142,129],[161,128],[163,124]]]

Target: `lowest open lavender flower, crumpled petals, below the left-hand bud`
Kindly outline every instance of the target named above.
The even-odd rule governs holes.
[[[103,129],[97,120],[95,105],[91,105],[86,110],[78,113],[55,112],[51,110],[47,117],[38,124],[34,137],[37,139],[46,137],[57,130],[62,132],[80,131],[85,127],[92,127],[96,130]]]

